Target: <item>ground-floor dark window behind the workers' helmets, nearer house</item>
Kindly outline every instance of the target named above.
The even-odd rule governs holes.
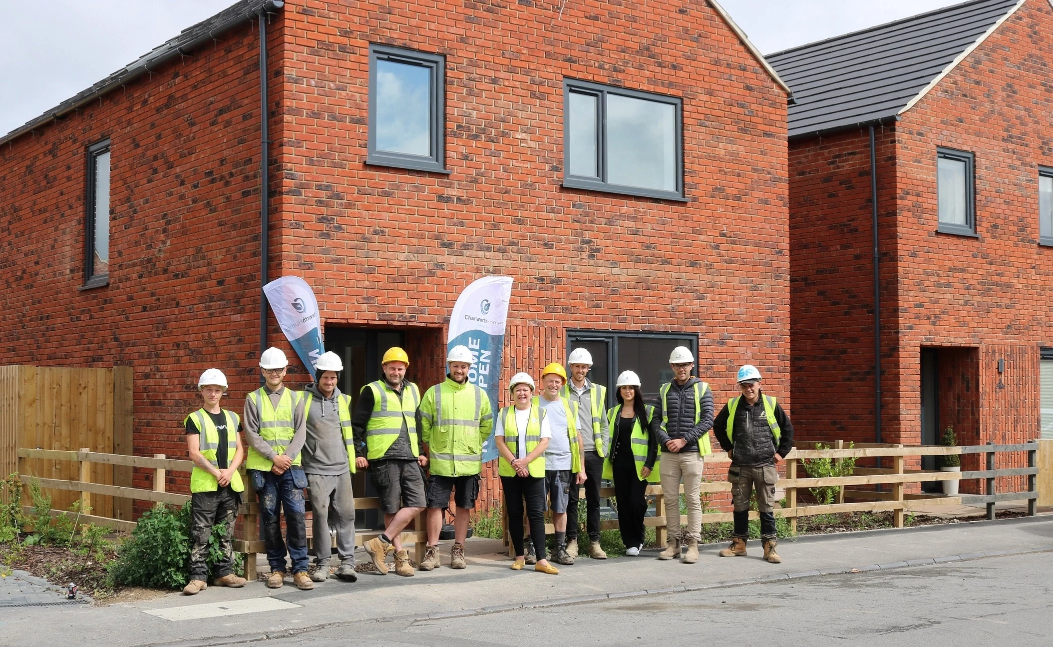
[[[607,387],[607,406],[615,401],[614,385],[622,371],[634,371],[640,376],[640,391],[644,399],[654,404],[658,389],[673,379],[669,355],[678,346],[686,346],[698,356],[698,335],[691,333],[596,332],[573,330],[567,333],[567,354],[583,348],[592,355],[593,366],[589,379]],[[692,372],[697,375],[697,370]]]

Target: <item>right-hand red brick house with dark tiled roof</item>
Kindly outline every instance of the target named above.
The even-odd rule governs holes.
[[[796,100],[804,437],[928,445],[953,427],[961,444],[1022,443],[1050,429],[1051,30],[1049,0],[978,0],[768,57]]]

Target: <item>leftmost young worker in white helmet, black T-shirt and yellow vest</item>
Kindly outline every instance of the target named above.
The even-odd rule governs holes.
[[[186,449],[194,469],[191,471],[191,581],[183,593],[194,595],[208,588],[208,538],[217,524],[223,524],[219,550],[223,558],[215,565],[213,584],[239,588],[243,577],[234,573],[234,552],[231,537],[241,505],[241,483],[238,466],[244,450],[238,435],[238,414],[220,409],[219,400],[226,392],[226,376],[219,369],[208,369],[198,379],[203,405],[183,418]]]

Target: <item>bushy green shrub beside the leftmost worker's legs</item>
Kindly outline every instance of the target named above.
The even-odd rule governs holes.
[[[111,566],[116,584],[151,588],[176,589],[190,579],[191,504],[175,508],[157,504],[139,519],[132,538],[120,546],[117,560]],[[213,526],[208,538],[208,568],[222,558],[219,550],[223,524]],[[235,570],[241,567],[241,555],[235,553]]]

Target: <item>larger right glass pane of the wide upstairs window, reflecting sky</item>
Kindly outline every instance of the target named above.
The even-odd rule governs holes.
[[[607,181],[676,191],[676,109],[607,96]]]

